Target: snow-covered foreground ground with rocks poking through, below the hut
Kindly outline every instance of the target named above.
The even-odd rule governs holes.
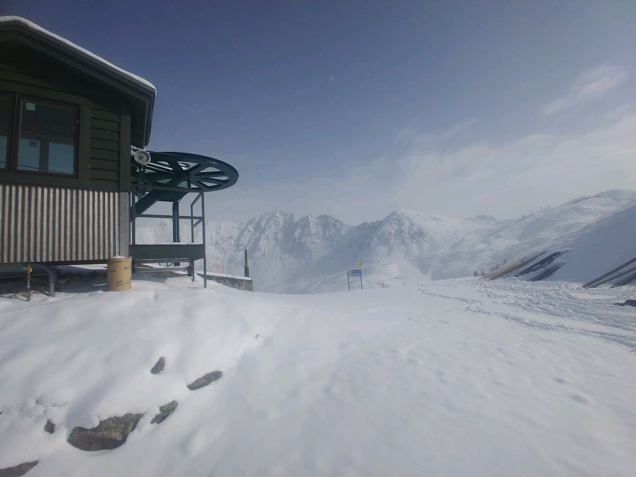
[[[635,286],[386,280],[275,295],[99,275],[0,298],[0,469],[37,476],[633,476]],[[165,370],[149,371],[158,357]],[[189,391],[210,371],[223,377]],[[160,424],[162,404],[179,403]],[[145,413],[114,450],[73,427]],[[43,431],[46,421],[53,434]]]

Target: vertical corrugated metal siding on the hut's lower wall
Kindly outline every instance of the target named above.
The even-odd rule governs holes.
[[[115,191],[0,184],[0,263],[108,259],[119,222]]]

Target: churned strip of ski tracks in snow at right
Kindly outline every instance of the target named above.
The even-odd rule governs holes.
[[[483,301],[467,298],[466,294],[438,293],[445,291],[444,288],[450,284],[453,287],[448,287],[449,291],[456,293],[458,282],[466,289],[473,289],[473,293],[467,294],[476,293]],[[460,279],[420,286],[420,293],[461,301],[468,311],[501,317],[529,328],[600,338],[636,351],[636,314],[631,307],[613,305],[616,301],[623,301],[617,296],[629,294],[629,290],[608,295],[607,289],[582,291],[577,284],[515,279],[489,282]],[[483,308],[484,302],[488,302],[487,310]],[[501,310],[493,309],[497,307]]]

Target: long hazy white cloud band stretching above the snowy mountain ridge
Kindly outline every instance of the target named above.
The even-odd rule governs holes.
[[[210,207],[214,218],[232,221],[275,209],[300,216],[329,214],[352,225],[399,208],[457,218],[514,218],[581,195],[633,189],[634,130],[636,111],[621,107],[576,134],[527,134],[448,148],[446,130],[425,133],[411,137],[406,152],[336,175],[262,184],[249,193],[231,188]]]

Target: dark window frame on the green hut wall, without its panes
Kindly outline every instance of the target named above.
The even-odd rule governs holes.
[[[88,188],[90,176],[90,100],[73,94],[23,83],[0,81],[0,93],[13,97],[13,111],[9,126],[6,167],[0,168],[0,183]],[[18,169],[22,103],[25,99],[41,100],[78,108],[78,130],[74,157],[74,174],[40,172]]]

